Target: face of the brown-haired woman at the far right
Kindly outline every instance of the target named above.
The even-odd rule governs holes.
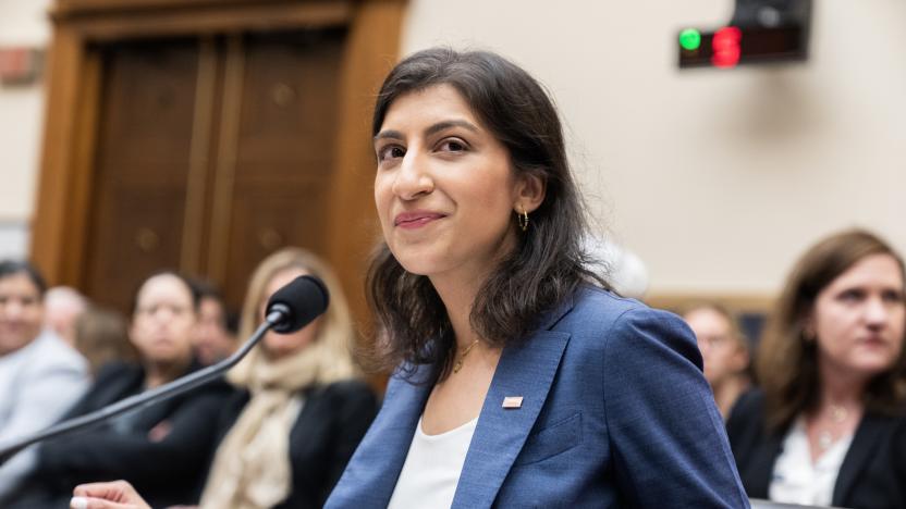
[[[807,324],[825,372],[865,380],[896,362],[904,328],[903,273],[890,254],[865,257],[833,280],[818,294]]]

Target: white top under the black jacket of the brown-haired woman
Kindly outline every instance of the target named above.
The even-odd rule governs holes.
[[[783,440],[768,498],[786,504],[830,506],[840,465],[852,442],[853,435],[840,438],[812,463],[805,422],[798,419]]]

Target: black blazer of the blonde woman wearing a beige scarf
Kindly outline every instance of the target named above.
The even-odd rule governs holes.
[[[304,394],[305,405],[290,432],[293,489],[274,509],[322,507],[378,413],[377,396],[360,381],[309,387]],[[226,401],[216,435],[218,444],[248,399],[248,392],[242,390]]]

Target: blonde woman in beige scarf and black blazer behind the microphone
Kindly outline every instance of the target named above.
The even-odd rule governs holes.
[[[264,320],[274,291],[305,274],[327,285],[328,311],[296,333],[268,333],[228,374],[241,390],[220,414],[220,445],[200,495],[204,509],[322,507],[377,414],[377,397],[350,352],[353,326],[340,284],[310,252],[285,248],[258,265],[240,336]],[[123,482],[78,486],[74,495],[73,507],[148,507]]]

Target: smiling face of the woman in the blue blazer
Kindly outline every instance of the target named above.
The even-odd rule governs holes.
[[[506,148],[455,88],[436,85],[397,98],[375,151],[381,228],[407,271],[468,280],[513,248],[524,185]]]

